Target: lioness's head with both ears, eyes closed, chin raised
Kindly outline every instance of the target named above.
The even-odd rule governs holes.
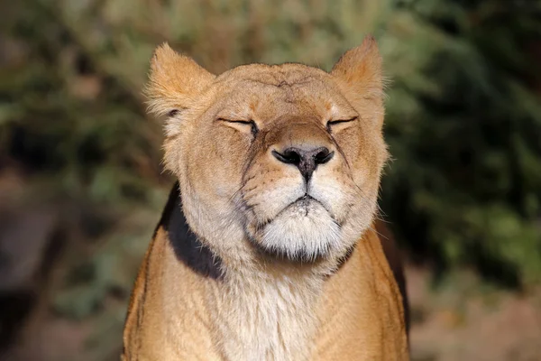
[[[164,44],[147,90],[168,118],[165,164],[189,226],[217,255],[337,259],[370,227],[387,159],[373,38],[330,73],[286,63],[215,76]]]

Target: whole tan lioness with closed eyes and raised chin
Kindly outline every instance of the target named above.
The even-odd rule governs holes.
[[[215,76],[160,46],[150,108],[179,179],[137,276],[124,360],[404,360],[375,230],[381,56]]]

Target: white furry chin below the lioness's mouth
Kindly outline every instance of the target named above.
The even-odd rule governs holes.
[[[263,229],[260,244],[271,254],[311,261],[340,245],[341,231],[319,202],[300,200]]]

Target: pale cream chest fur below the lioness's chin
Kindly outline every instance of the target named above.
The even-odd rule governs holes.
[[[306,360],[316,331],[320,284],[288,277],[227,282],[209,302],[226,359]]]

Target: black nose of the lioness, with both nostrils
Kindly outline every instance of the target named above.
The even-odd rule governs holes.
[[[317,166],[329,162],[333,158],[333,155],[335,155],[335,152],[330,152],[326,147],[309,150],[289,147],[281,153],[272,151],[272,155],[280,162],[297,165],[298,171],[300,171],[300,174],[308,182],[312,177],[312,173],[316,171]]]

